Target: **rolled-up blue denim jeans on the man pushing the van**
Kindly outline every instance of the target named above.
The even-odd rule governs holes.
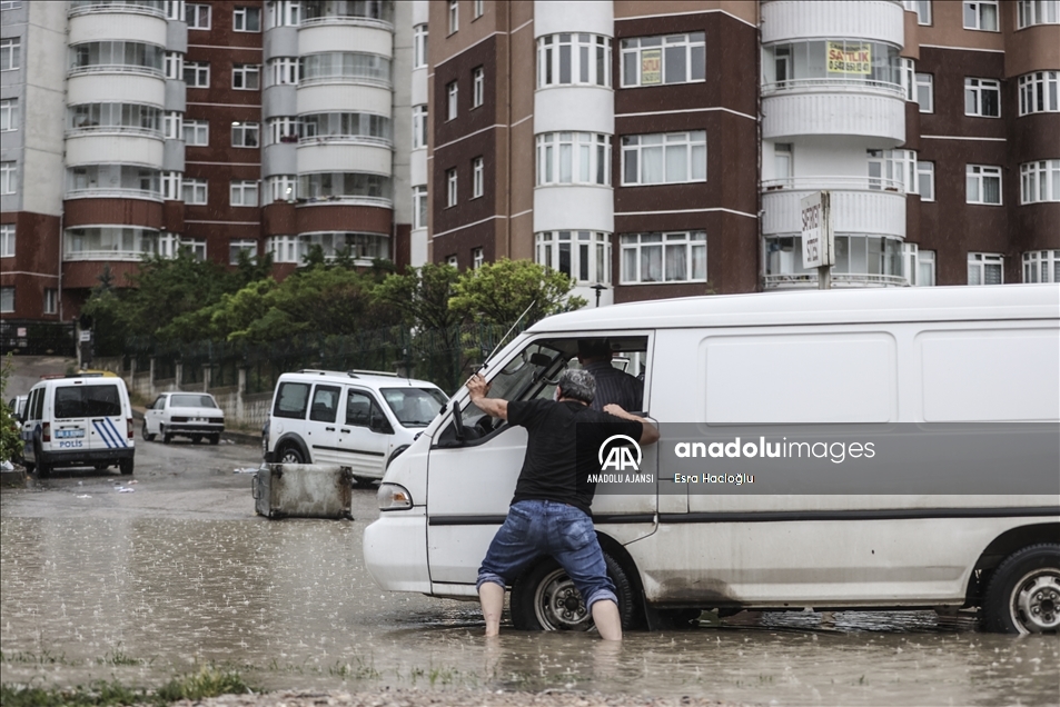
[[[586,608],[601,599],[618,603],[593,519],[557,501],[519,501],[508,509],[478,568],[476,587],[487,581],[504,587],[542,555],[551,555],[566,570]]]

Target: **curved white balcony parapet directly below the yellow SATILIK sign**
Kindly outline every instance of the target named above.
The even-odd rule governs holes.
[[[762,87],[762,137],[846,135],[905,141],[905,94],[898,83],[855,79],[798,79]]]

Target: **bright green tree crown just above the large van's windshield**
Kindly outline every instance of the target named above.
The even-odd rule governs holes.
[[[573,287],[574,279],[558,270],[503,258],[464,272],[454,285],[449,307],[468,319],[508,326],[529,307],[523,319],[529,326],[549,315],[584,307],[585,299],[569,296]]]

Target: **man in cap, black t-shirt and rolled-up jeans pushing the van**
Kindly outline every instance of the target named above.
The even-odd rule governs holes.
[[[625,435],[651,445],[658,439],[658,430],[617,405],[604,407],[603,412],[593,410],[596,382],[585,370],[567,370],[559,377],[555,401],[487,398],[489,384],[477,374],[467,381],[467,389],[472,402],[486,415],[525,427],[528,434],[508,516],[478,569],[486,636],[501,630],[505,586],[535,558],[551,555],[582,594],[601,637],[621,640],[615,586],[607,577],[590,510],[595,485],[578,478],[584,469],[577,464],[576,426],[583,434],[591,430],[600,436],[601,444],[610,436]]]

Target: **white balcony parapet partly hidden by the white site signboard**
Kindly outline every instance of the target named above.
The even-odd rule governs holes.
[[[800,200],[814,192],[832,195],[835,233],[872,233],[905,238],[905,187],[876,177],[794,177],[762,182],[762,232],[802,231]]]

